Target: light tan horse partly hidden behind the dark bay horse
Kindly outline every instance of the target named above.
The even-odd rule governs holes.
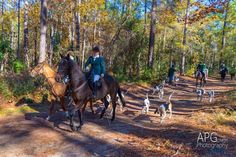
[[[50,119],[53,113],[56,99],[59,99],[61,108],[63,109],[64,112],[66,112],[66,116],[69,117],[68,112],[65,107],[65,95],[66,95],[68,85],[64,83],[59,83],[55,80],[57,73],[46,62],[39,63],[30,73],[32,77],[35,77],[36,75],[40,75],[40,74],[43,74],[44,77],[47,79],[47,82],[51,88],[51,93],[53,95],[51,106],[49,109],[49,116],[47,117],[47,120]],[[94,114],[92,102],[90,102],[90,108],[91,108],[92,113]],[[85,106],[83,108],[83,111],[84,110],[85,110]]]

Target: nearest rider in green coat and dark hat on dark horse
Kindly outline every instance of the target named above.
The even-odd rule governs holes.
[[[93,47],[93,56],[90,56],[85,63],[85,68],[88,68],[88,65],[91,65],[90,74],[92,75],[92,82],[93,82],[93,98],[96,98],[97,96],[97,86],[98,81],[101,77],[104,77],[104,74],[106,72],[105,68],[105,61],[104,58],[100,55],[100,50],[98,46]]]

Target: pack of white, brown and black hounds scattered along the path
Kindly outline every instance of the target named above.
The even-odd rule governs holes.
[[[177,86],[177,82],[179,81],[179,78],[175,77],[174,81],[175,81],[175,85]],[[162,81],[160,84],[151,88],[152,95],[158,94],[159,99],[163,100],[165,84],[166,84],[166,80]],[[122,97],[124,98],[128,92],[129,92],[129,89],[127,89],[126,92],[122,92]],[[172,91],[168,97],[168,100],[165,103],[160,104],[154,111],[154,114],[160,115],[160,123],[163,123],[164,119],[167,116],[167,112],[169,112],[169,118],[172,117],[173,104],[171,102],[171,98],[174,93],[175,92]],[[204,98],[208,98],[210,103],[214,100],[214,96],[215,96],[214,90],[205,90],[204,88],[197,87],[195,90],[195,93],[196,93],[196,99],[199,102],[202,102]],[[107,98],[108,102],[111,101],[110,95],[107,95],[106,98]],[[120,110],[123,111],[122,103],[121,103],[121,100],[118,95],[117,95],[117,104],[119,105]],[[149,99],[149,94],[147,92],[146,98],[143,100],[143,107],[141,110],[141,114],[148,114],[150,106],[151,106],[151,103],[150,103],[150,99]]]

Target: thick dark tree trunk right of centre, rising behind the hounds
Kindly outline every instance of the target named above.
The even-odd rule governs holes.
[[[151,69],[153,68],[153,61],[154,61],[154,43],[155,43],[155,31],[156,31],[156,9],[157,9],[157,0],[152,0],[149,50],[148,50],[148,68],[151,68]]]

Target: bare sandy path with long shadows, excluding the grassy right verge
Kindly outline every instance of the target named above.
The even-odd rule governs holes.
[[[127,85],[123,85],[127,89]],[[216,91],[216,99],[222,93],[236,88],[236,82],[220,83],[208,80],[206,89]],[[178,86],[166,86],[165,97],[174,90],[174,115],[160,125],[155,107],[164,102],[157,95],[150,96],[151,111],[140,115],[143,99],[148,87],[132,85],[126,96],[127,107],[117,109],[116,120],[110,124],[106,118],[98,119],[87,109],[85,125],[79,132],[71,132],[62,112],[57,112],[50,122],[46,113],[26,113],[21,116],[0,117],[0,156],[171,156],[179,149],[177,156],[235,156],[236,137],[231,137],[227,150],[195,149],[201,128],[188,125],[188,117],[205,106],[213,106],[207,100],[196,101],[194,80],[182,77]],[[96,106],[100,110],[99,106]],[[230,151],[229,151],[230,150]],[[215,155],[214,155],[215,154]]]

